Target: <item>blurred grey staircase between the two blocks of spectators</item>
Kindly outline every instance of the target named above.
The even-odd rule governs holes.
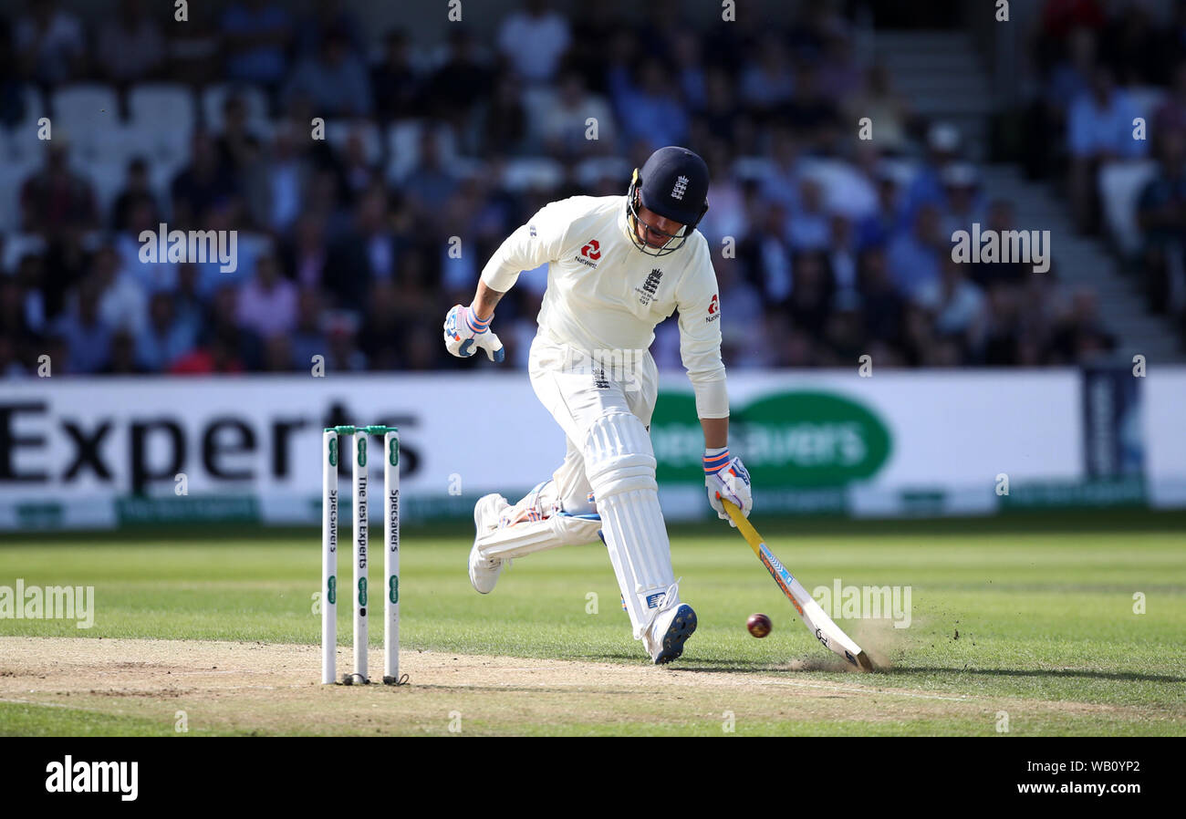
[[[1135,287],[1116,270],[1103,242],[1077,235],[1064,203],[1044,185],[1027,183],[1012,165],[984,165],[988,156],[988,116],[993,92],[971,38],[962,32],[876,32],[876,59],[890,69],[894,88],[916,111],[959,128],[965,153],[982,171],[989,198],[1005,198],[1016,206],[1018,228],[1050,230],[1059,276],[1065,287],[1091,287],[1099,309],[1117,335],[1117,360],[1141,353],[1147,360],[1186,360],[1169,324],[1144,309]]]

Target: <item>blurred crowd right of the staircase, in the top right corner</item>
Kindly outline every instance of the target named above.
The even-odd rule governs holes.
[[[1029,57],[1027,169],[1186,344],[1186,1],[1047,0]]]

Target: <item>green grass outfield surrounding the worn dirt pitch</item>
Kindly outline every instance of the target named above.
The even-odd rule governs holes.
[[[1014,513],[937,522],[755,516],[754,523],[809,590],[830,587],[834,578],[846,586],[910,587],[908,628],[894,628],[890,620],[837,621],[888,667],[872,676],[835,668],[741,537],[714,522],[671,527],[681,596],[700,618],[699,631],[674,667],[742,680],[764,674],[788,685],[898,691],[904,692],[903,702],[910,702],[908,692],[925,692],[936,700],[969,698],[983,708],[926,714],[904,709],[895,719],[884,711],[871,715],[872,706],[853,697],[850,711],[840,705],[815,712],[805,708],[802,715],[793,708],[763,711],[738,732],[993,735],[995,715],[1009,712],[1009,703],[1016,702],[1016,712],[1026,716],[1014,719],[1013,734],[1186,734],[1186,514]],[[380,590],[377,535],[372,532],[370,578]],[[492,595],[479,596],[466,576],[470,537],[460,525],[404,529],[406,653],[644,663],[639,644],[630,639],[602,546],[516,561]],[[340,557],[339,588],[346,589],[350,556]],[[85,631],[65,620],[0,619],[0,638],[46,638],[51,645],[50,638],[139,638],[313,646],[320,636],[313,612],[319,562],[319,533],[311,530],[9,535],[0,537],[0,586],[13,587],[17,578],[26,587],[94,586],[96,615]],[[1134,613],[1136,594],[1144,596],[1143,614]],[[774,621],[765,640],[745,629],[753,612]],[[350,608],[340,600],[338,615],[339,645],[346,646]],[[377,606],[371,645],[382,645]],[[0,692],[14,659],[0,655]],[[339,660],[339,671],[346,665]],[[412,682],[415,687],[428,680]],[[33,689],[28,697],[0,693],[0,734],[172,732],[151,712],[128,709],[123,699],[110,709],[103,699],[64,704],[42,700]],[[370,690],[366,696],[372,696]],[[586,711],[580,699],[593,702],[594,692],[576,687],[565,696],[573,702],[567,716],[557,708],[554,718],[523,721],[508,704],[505,718],[490,711],[474,730],[701,734],[713,732],[715,724],[720,732],[720,721],[704,716],[716,708],[710,699],[701,715],[681,721],[645,700],[624,698]],[[757,695],[745,695],[751,696]],[[212,732],[307,729],[296,717],[291,724],[276,717],[261,728],[250,716],[244,714],[241,722],[228,717]]]

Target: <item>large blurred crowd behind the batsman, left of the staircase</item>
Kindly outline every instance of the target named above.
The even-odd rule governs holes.
[[[336,0],[308,17],[190,4],[184,26],[147,0],[98,20],[28,0],[0,17],[0,372],[45,354],[55,373],[485,365],[451,359],[441,322],[499,242],[549,200],[625,193],[672,143],[713,173],[700,230],[729,367],[1107,353],[1093,294],[1057,267],[951,261],[954,230],[1018,226],[1013,204],[986,197],[961,134],[913,114],[830,7],[707,31],[665,0],[573,18],[525,0],[416,43]],[[1085,119],[1072,141],[1091,151],[1105,117]],[[144,262],[161,223],[237,231],[236,269]],[[546,280],[524,273],[495,319],[518,366]],[[680,365],[674,321],[652,352]]]

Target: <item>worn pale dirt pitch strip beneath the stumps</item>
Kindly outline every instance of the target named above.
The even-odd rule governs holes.
[[[1078,702],[958,696],[810,672],[540,660],[406,651],[393,687],[323,686],[310,645],[74,638],[0,638],[0,706],[66,709],[78,732],[117,718],[136,732],[174,734],[994,734],[1097,730],[1140,723],[1141,709]],[[382,651],[371,651],[374,673]],[[339,648],[339,672],[351,653]],[[0,710],[0,715],[6,711]],[[731,716],[732,715],[732,722]],[[119,724],[119,723],[116,723]],[[929,728],[930,727],[930,728]],[[60,729],[58,729],[60,730]],[[110,729],[120,732],[119,728]],[[0,734],[12,732],[0,716]],[[53,732],[53,731],[51,731]],[[89,732],[89,731],[88,731]],[[98,732],[107,732],[100,730]]]

